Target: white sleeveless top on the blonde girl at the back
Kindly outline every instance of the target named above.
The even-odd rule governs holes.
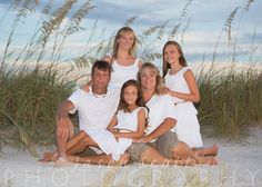
[[[110,87],[121,88],[122,85],[129,79],[137,80],[137,73],[139,71],[139,58],[130,66],[119,65],[117,60],[112,61],[112,73],[109,82]]]

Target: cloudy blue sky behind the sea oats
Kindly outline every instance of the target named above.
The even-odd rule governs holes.
[[[246,62],[252,56],[252,61],[262,62],[262,1],[251,1],[249,11],[243,11],[248,1],[250,0],[93,0],[90,2],[95,8],[90,10],[82,20],[82,30],[70,36],[64,43],[64,59],[87,52],[93,46],[114,35],[128,19],[137,17],[130,24],[137,36],[142,35],[150,27],[167,23],[162,40],[149,38],[147,45],[138,47],[138,56],[142,56],[145,51],[161,53],[164,42],[173,39],[180,42],[189,62],[202,61],[203,56],[206,61],[210,61],[219,40],[218,60],[229,61],[229,53],[232,53],[233,46],[230,45],[225,31],[229,28],[226,20],[238,8],[231,22],[231,43],[234,43],[238,38],[236,59],[239,62]],[[10,0],[0,0],[1,51],[4,51],[14,19],[13,12],[4,14],[10,2]],[[27,18],[19,23],[10,49],[22,49],[36,31],[38,20],[43,17],[41,9],[48,0],[39,0],[39,2],[37,11],[28,13]],[[52,11],[61,7],[63,2],[62,0],[53,0]],[[87,1],[78,0],[72,7],[71,14],[84,2]],[[183,10],[187,14],[181,17]],[[71,14],[69,13],[68,19]],[[95,30],[92,32],[94,23]],[[177,35],[174,38],[170,38],[170,31],[178,23],[181,26]],[[93,36],[91,39],[90,35]]]

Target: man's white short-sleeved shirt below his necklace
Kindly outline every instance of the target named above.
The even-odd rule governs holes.
[[[111,88],[104,97],[98,97],[78,88],[68,100],[74,105],[70,112],[79,112],[80,130],[105,129],[117,111],[119,90]]]

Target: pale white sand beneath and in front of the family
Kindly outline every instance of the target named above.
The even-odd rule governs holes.
[[[151,166],[131,164],[123,167],[72,165],[56,168],[40,164],[27,151],[4,147],[0,156],[0,186],[262,186],[262,128],[254,128],[241,141],[203,136],[205,146],[220,147],[218,166]],[[47,148],[39,148],[42,154]]]

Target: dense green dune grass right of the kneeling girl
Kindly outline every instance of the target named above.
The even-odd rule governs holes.
[[[214,127],[215,135],[239,138],[250,125],[261,124],[262,72],[252,66],[242,70],[231,68],[199,78],[198,110],[200,122]]]

